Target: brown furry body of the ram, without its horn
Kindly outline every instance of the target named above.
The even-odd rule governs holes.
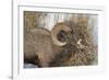
[[[53,45],[50,32],[46,28],[34,28],[24,34],[25,61],[34,59],[37,62],[38,56],[39,65],[47,67],[61,49],[61,47]]]

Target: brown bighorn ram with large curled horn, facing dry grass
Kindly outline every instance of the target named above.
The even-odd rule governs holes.
[[[58,36],[63,39],[60,39]],[[64,23],[58,23],[50,31],[44,27],[33,28],[24,32],[24,61],[37,64],[48,67],[53,58],[60,54],[66,45],[65,33],[71,28]]]

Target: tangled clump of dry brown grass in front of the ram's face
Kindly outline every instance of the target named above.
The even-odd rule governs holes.
[[[58,55],[51,66],[87,66],[97,65],[97,46],[94,46],[93,36],[88,31],[88,18],[78,16],[77,23],[66,21],[72,28],[72,38],[62,54]],[[80,42],[80,44],[78,44]]]

